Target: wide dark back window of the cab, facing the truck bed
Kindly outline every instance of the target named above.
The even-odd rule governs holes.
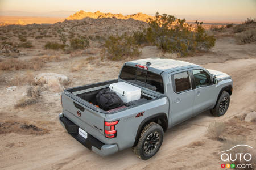
[[[137,67],[124,66],[120,78],[150,90],[164,93],[163,79],[159,74]]]

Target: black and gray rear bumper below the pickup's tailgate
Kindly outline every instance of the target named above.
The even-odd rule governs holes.
[[[118,151],[118,147],[116,144],[114,145],[105,145],[98,139],[94,138],[89,133],[87,134],[87,139],[82,137],[78,133],[78,126],[70,121],[67,117],[64,117],[63,113],[59,114],[60,124],[67,130],[67,132],[72,135],[77,141],[79,141],[82,145],[87,147],[89,150],[96,152],[101,156],[111,155]]]

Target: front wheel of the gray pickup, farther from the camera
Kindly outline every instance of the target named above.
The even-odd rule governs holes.
[[[222,92],[216,106],[210,110],[213,116],[223,116],[229,108],[230,95],[228,92]]]

